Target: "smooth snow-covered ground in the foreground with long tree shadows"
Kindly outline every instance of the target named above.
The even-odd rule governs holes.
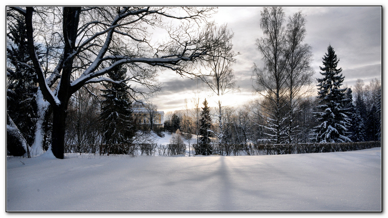
[[[7,211],[380,211],[381,148],[7,159]]]

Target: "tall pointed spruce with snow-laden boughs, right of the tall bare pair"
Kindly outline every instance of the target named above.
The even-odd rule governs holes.
[[[347,88],[340,88],[344,80],[342,69],[337,69],[339,59],[331,45],[327,47],[327,53],[323,57],[323,67],[320,67],[321,75],[318,79],[318,98],[320,105],[319,112],[315,113],[317,120],[321,123],[315,129],[316,141],[320,143],[342,143],[351,142],[347,137],[347,109],[343,108],[345,91]]]

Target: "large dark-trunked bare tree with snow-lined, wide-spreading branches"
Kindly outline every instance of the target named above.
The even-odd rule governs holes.
[[[40,91],[53,110],[52,151],[64,158],[66,111],[70,96],[89,83],[122,83],[106,77],[114,67],[125,65],[130,94],[147,95],[159,90],[158,67],[180,75],[195,74],[217,42],[194,25],[206,23],[212,8],[181,7],[8,7],[25,16],[30,67],[38,76]],[[177,21],[177,27],[171,23]],[[147,27],[167,33],[165,43],[150,38]],[[51,31],[48,31],[50,30]],[[48,35],[47,33],[53,34]],[[35,44],[49,44],[42,64]],[[112,64],[112,61],[114,63]],[[79,72],[79,77],[73,73]],[[140,89],[139,86],[143,87]],[[146,87],[146,91],[144,91]]]

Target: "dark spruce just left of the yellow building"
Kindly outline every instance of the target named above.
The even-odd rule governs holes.
[[[127,70],[124,67],[115,68],[108,73],[114,81],[122,83],[108,83],[103,86],[100,118],[103,123],[103,144],[108,154],[127,154],[126,147],[136,133],[132,117],[132,106],[125,84]]]

